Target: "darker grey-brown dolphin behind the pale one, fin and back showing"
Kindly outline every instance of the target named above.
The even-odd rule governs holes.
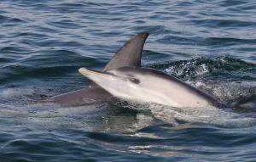
[[[141,57],[143,46],[148,37],[148,33],[140,33],[131,38],[121,47],[113,58],[104,67],[103,71],[119,68],[122,66],[141,66]],[[52,100],[64,106],[79,106],[86,104],[102,103],[111,98],[111,94],[102,87],[91,83],[90,86],[84,87],[78,91],[67,92],[55,96]]]

